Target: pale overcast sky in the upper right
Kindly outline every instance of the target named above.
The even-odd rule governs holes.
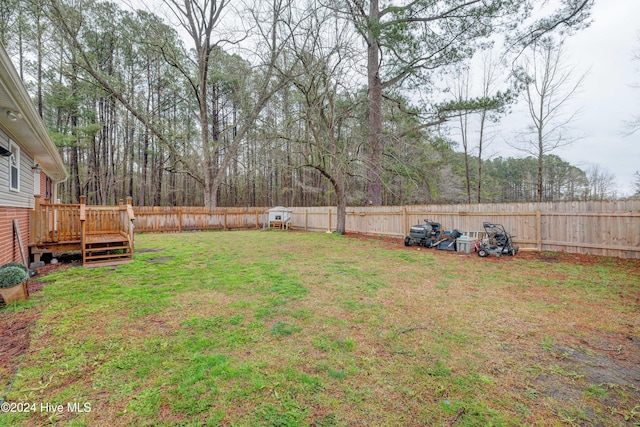
[[[576,67],[576,77],[589,70],[567,106],[581,111],[571,126],[580,139],[553,154],[585,171],[599,165],[616,176],[618,196],[631,195],[640,170],[640,131],[625,136],[624,122],[640,115],[640,61],[633,60],[640,52],[640,0],[596,0],[592,17],[589,28],[566,42],[566,62]],[[504,122],[517,120],[522,107]],[[523,157],[505,150],[502,156]]]

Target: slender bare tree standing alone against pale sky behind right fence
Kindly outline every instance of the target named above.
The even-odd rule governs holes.
[[[563,57],[562,43],[545,38],[531,46],[530,55],[514,72],[523,86],[531,124],[510,145],[538,160],[538,201],[543,198],[544,156],[577,139],[567,131],[578,111],[567,114],[565,110],[586,73],[574,80],[575,69],[566,67]]]

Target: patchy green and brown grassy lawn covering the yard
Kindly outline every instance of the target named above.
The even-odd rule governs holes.
[[[137,235],[4,309],[38,312],[7,396],[35,412],[0,425],[638,426],[640,263],[583,261]]]

